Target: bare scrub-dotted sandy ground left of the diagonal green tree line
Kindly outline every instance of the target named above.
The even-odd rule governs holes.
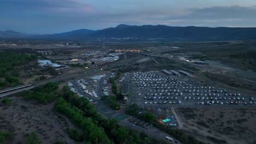
[[[31,101],[15,99],[9,106],[0,106],[0,129],[9,131],[13,137],[7,143],[26,143],[31,131],[37,131],[42,143],[57,140],[75,143],[65,131],[67,127],[74,128],[74,125],[55,112],[53,104],[34,105]]]

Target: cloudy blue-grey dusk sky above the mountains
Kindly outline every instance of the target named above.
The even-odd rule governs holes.
[[[255,0],[1,0],[0,31],[60,33],[127,25],[256,27]]]

